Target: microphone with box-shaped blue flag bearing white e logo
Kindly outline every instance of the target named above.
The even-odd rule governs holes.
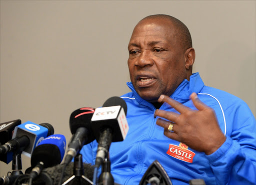
[[[0,154],[20,150],[22,151],[22,154],[31,157],[34,147],[44,138],[53,133],[54,129],[48,123],[37,125],[27,121],[15,127],[12,140],[0,146]]]

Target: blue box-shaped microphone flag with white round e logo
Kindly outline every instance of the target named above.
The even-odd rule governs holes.
[[[27,121],[15,127],[12,135],[12,139],[25,135],[29,138],[29,141],[32,141],[29,143],[28,147],[26,147],[22,151],[22,154],[30,158],[31,153],[35,148],[35,146],[37,146],[39,142],[41,142],[44,138],[47,137],[47,133],[48,133],[47,128],[37,125],[33,122]]]

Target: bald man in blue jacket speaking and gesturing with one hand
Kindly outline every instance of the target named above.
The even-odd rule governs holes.
[[[121,97],[129,131],[109,149],[114,181],[138,185],[157,160],[173,185],[191,179],[255,184],[255,118],[242,100],[192,74],[187,27],[168,15],[147,16],[135,26],[128,51],[131,92]],[[94,164],[96,150],[96,141],[84,146],[83,160]]]

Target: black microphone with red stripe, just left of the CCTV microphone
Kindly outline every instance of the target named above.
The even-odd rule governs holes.
[[[94,108],[83,107],[72,112],[69,119],[69,127],[72,138],[69,142],[64,164],[71,162],[83,145],[92,142],[95,137],[91,131],[90,119]]]

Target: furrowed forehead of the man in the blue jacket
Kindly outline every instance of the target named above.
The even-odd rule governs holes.
[[[150,43],[168,43],[175,37],[175,27],[168,19],[144,19],[133,29],[129,45],[143,41]]]

